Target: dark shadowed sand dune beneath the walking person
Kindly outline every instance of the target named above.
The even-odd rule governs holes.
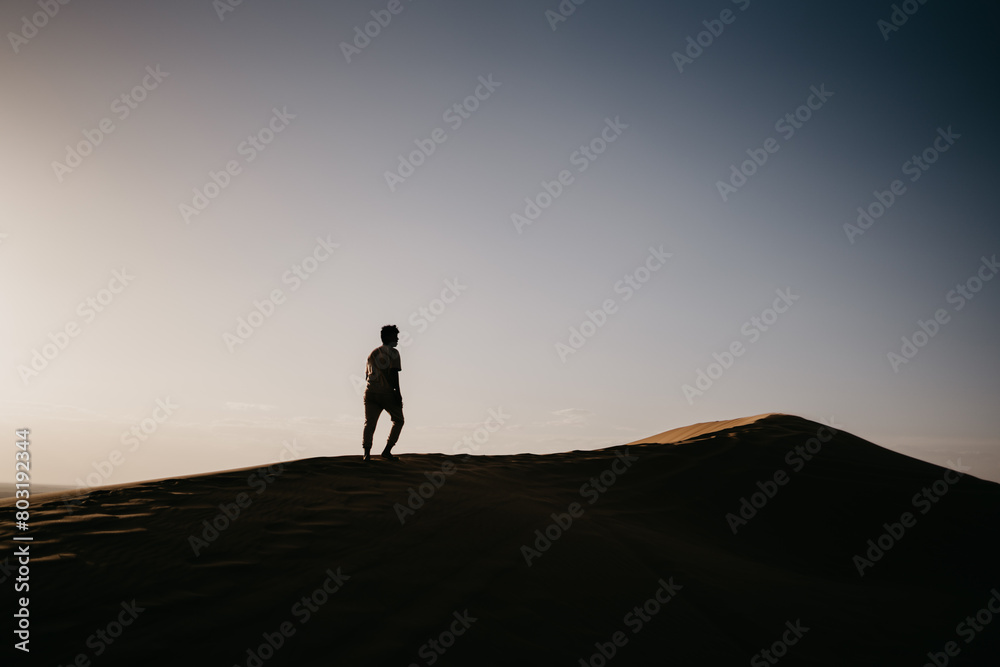
[[[1000,485],[798,417],[680,431],[629,446],[634,461],[322,458],[270,483],[243,470],[39,497],[30,664],[577,666],[604,664],[598,644],[609,665],[766,665],[773,649],[781,665],[919,667],[947,642],[949,664],[1000,664],[1000,614],[959,625],[1000,590]],[[788,454],[817,436],[811,460]],[[394,506],[449,464],[402,525]],[[734,534],[727,514],[778,471],[786,483]],[[581,490],[602,473],[603,492]],[[945,492],[915,504],[936,482]],[[582,514],[553,526],[572,503]],[[914,521],[860,576],[854,556],[904,512]],[[211,537],[213,517],[230,525],[196,556],[189,536]],[[556,539],[536,545],[547,527]],[[537,547],[530,566],[522,545]],[[133,600],[142,611],[123,610]],[[111,644],[88,646],[119,617]],[[262,644],[266,660],[248,656]]]

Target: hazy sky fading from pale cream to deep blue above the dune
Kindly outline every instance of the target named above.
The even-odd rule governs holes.
[[[1000,253],[995,5],[913,2],[888,32],[888,2],[590,0],[559,22],[556,0],[220,6],[0,10],[0,403],[11,441],[32,430],[34,482],[359,454],[356,380],[386,323],[409,334],[399,453],[455,452],[491,410],[503,425],[478,431],[477,453],[786,412],[1000,481],[1000,280],[961,309],[948,299]],[[712,23],[723,10],[731,22]],[[372,12],[391,21],[348,62]],[[679,71],[688,37],[720,26]],[[463,100],[477,108],[456,127],[446,112]],[[794,134],[776,126],[810,100]],[[905,163],[949,128],[911,181]],[[75,168],[54,165],[80,142]],[[593,160],[579,152],[592,142]],[[747,151],[767,161],[723,200]],[[227,165],[226,187],[184,215]],[[849,239],[896,179],[905,192]],[[307,280],[288,273],[317,247]],[[651,248],[670,254],[662,267]],[[648,280],[633,291],[627,275]],[[271,316],[227,343],[274,290]],[[771,318],[776,290],[797,299],[764,331],[752,318]],[[894,369],[889,353],[938,310]]]

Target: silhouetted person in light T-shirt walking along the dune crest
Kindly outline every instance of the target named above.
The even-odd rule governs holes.
[[[394,324],[382,327],[382,344],[368,355],[368,365],[365,368],[365,432],[362,446],[365,448],[365,461],[371,460],[372,436],[375,435],[375,425],[379,415],[385,410],[392,418],[392,430],[389,439],[382,450],[382,456],[395,460],[392,447],[399,440],[399,432],[403,430],[403,395],[399,391],[399,329]]]

